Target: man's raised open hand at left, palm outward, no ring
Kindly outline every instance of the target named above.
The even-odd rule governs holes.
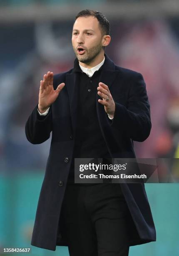
[[[38,110],[40,113],[45,112],[50,105],[55,102],[59,92],[65,86],[65,83],[58,85],[57,89],[53,89],[53,72],[47,72],[44,75],[43,81],[40,81],[40,91],[39,91],[39,104]]]

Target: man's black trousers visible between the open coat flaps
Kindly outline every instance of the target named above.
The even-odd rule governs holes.
[[[120,184],[68,184],[61,217],[70,256],[128,256],[128,211]]]

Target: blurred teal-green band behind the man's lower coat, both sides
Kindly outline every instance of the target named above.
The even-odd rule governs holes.
[[[69,255],[67,247],[57,246],[56,251],[50,251],[30,245],[43,177],[44,172],[39,170],[0,176],[0,247],[31,248],[31,253],[3,255]],[[132,246],[129,256],[178,256],[179,184],[145,184],[145,187],[157,242]]]

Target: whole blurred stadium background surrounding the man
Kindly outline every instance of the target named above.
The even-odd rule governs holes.
[[[109,19],[112,41],[106,53],[146,81],[152,131],[145,142],[135,143],[137,157],[179,158],[179,0],[0,0],[1,248],[69,255],[67,247],[30,246],[50,139],[31,145],[25,122],[38,102],[43,74],[72,68],[72,25],[83,9]],[[146,190],[157,242],[131,247],[129,255],[178,256],[179,184],[146,184]]]

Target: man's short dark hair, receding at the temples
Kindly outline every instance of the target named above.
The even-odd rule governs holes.
[[[82,16],[94,16],[95,18],[97,18],[97,20],[99,21],[99,27],[101,28],[102,31],[102,35],[109,35],[109,31],[110,31],[110,23],[109,20],[107,20],[107,18],[99,11],[96,10],[82,10],[80,11],[80,13],[77,14],[77,16],[75,17],[75,20],[79,17]],[[105,48],[105,46],[103,46],[103,49]]]

